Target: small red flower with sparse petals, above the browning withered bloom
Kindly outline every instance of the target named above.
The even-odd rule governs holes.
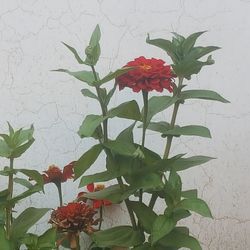
[[[72,179],[74,177],[74,163],[73,161],[66,165],[63,171],[56,165],[49,166],[48,170],[44,171],[45,174],[43,174],[44,183],[62,183],[68,179]]]

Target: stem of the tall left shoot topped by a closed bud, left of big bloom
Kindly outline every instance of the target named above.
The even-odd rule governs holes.
[[[94,65],[91,65],[91,69],[92,69],[95,80],[98,81],[98,77],[97,77],[97,73],[95,71]],[[106,117],[108,108],[107,108],[107,105],[103,102],[99,86],[96,86],[96,93],[97,93],[98,100],[99,100],[99,103],[100,103],[100,106],[101,106],[102,116]],[[108,119],[105,119],[103,121],[103,134],[104,134],[104,142],[107,142],[108,141]],[[106,149],[105,152],[106,152],[106,154],[108,156],[112,157],[112,154],[108,149]],[[118,181],[118,184],[119,184],[120,188],[122,190],[124,190],[124,185],[123,185],[122,178],[118,177],[117,181]],[[136,229],[135,216],[134,216],[132,207],[130,206],[130,201],[129,201],[129,199],[125,199],[124,201],[125,201],[128,213],[129,213],[131,224],[132,224],[133,228]]]

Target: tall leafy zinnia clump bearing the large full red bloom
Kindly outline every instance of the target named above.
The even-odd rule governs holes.
[[[180,226],[179,222],[191,216],[192,212],[210,218],[212,214],[206,202],[198,198],[196,189],[183,190],[180,173],[213,158],[203,155],[185,157],[182,152],[177,155],[170,152],[173,139],[180,136],[211,137],[209,129],[204,126],[176,125],[178,110],[185,102],[189,99],[228,102],[212,90],[192,89],[189,84],[194,74],[214,63],[210,54],[219,49],[216,46],[196,46],[203,33],[194,33],[186,38],[174,33],[172,40],[150,39],[148,36],[148,44],[164,51],[164,60],[140,56],[104,77],[96,70],[101,54],[98,25],[86,47],[85,59],[79,56],[76,49],[64,43],[84,69],[57,71],[84,82],[87,88],[82,89],[82,94],[97,101],[101,109],[99,114],[86,115],[78,131],[82,139],[94,138],[96,144],[74,164],[75,179],[80,178],[80,187],[88,185],[90,192],[82,193],[83,200],[91,199],[95,208],[104,205],[104,201],[113,204],[124,202],[131,221],[131,225],[115,225],[93,232],[92,249],[201,249],[198,240],[190,235],[189,228],[183,223]],[[209,55],[207,59],[202,60],[206,55]],[[110,108],[110,100],[117,87],[121,91],[131,88],[134,94],[131,95],[132,100],[128,96],[127,102]],[[134,100],[137,92],[142,93],[141,107]],[[172,111],[169,120],[158,120],[156,115],[167,109]],[[111,138],[108,131],[112,129],[113,118],[127,119],[131,124]],[[135,141],[134,131],[138,128],[142,131],[141,140]],[[148,130],[160,135],[159,143],[165,142],[163,152],[154,151],[147,140]],[[106,155],[103,171],[86,175],[85,172],[101,152]],[[100,190],[92,184],[111,180],[117,184]],[[154,208],[159,200],[163,200],[165,205],[157,214]]]

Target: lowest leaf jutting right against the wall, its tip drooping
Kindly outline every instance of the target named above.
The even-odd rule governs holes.
[[[196,212],[204,217],[213,218],[211,211],[205,201],[197,198],[184,199],[177,205],[178,208],[183,208]]]

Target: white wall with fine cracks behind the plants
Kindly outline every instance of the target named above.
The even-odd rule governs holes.
[[[222,49],[214,53],[216,64],[193,77],[190,88],[216,90],[231,104],[187,102],[178,116],[179,124],[208,126],[213,139],[176,139],[172,153],[217,158],[182,173],[184,186],[198,187],[199,195],[213,211],[214,220],[194,216],[186,222],[203,249],[250,249],[250,1],[1,0],[0,5],[0,130],[7,129],[6,121],[15,127],[34,123],[36,142],[16,161],[16,166],[40,171],[52,163],[64,166],[77,159],[93,141],[80,140],[76,131],[84,115],[99,112],[93,101],[81,95],[84,84],[50,71],[80,69],[61,41],[83,55],[90,33],[99,23],[103,35],[97,70],[104,75],[140,55],[168,60],[163,51],[145,43],[147,33],[169,38],[172,31],[188,35],[208,30],[200,43]],[[117,93],[113,105],[128,98],[137,97],[130,91]],[[160,118],[169,116],[161,114]],[[123,125],[121,120],[114,120],[110,133],[117,133]],[[161,150],[160,140],[150,134],[147,145]],[[1,159],[0,165],[5,164]],[[102,167],[99,160],[94,169]],[[2,189],[5,181],[0,180]],[[77,184],[64,186],[65,202],[75,197],[76,187]],[[35,195],[18,207],[57,204],[55,187],[48,185],[46,195]],[[159,205],[157,209],[160,208]],[[114,209],[112,216],[106,211],[106,225],[126,222],[126,211],[118,206]],[[44,219],[37,230],[46,227]]]

